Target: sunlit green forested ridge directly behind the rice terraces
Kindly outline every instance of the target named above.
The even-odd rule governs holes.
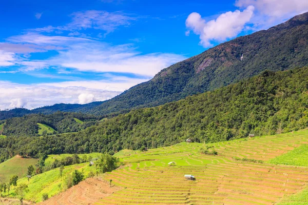
[[[153,108],[132,110],[78,133],[0,139],[0,159],[40,152],[156,148],[186,138],[216,142],[308,126],[308,67],[260,75]]]

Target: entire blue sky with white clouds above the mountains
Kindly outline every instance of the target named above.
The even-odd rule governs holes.
[[[107,100],[306,11],[306,0],[1,1],[0,109]]]

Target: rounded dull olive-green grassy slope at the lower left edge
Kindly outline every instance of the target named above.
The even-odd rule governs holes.
[[[27,168],[30,165],[35,165],[37,159],[13,157],[5,162],[0,163],[0,179],[4,182],[8,182],[13,175],[17,175],[18,178],[26,176]]]

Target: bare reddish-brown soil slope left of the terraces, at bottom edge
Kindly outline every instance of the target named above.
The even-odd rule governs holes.
[[[88,178],[80,182],[78,185],[62,192],[50,199],[38,203],[40,205],[88,205],[111,195],[113,192],[121,190],[120,187],[111,187],[108,182],[101,178]]]

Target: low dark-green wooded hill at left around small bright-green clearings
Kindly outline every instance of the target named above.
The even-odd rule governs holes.
[[[78,122],[76,119],[83,121]],[[30,114],[23,117],[14,117],[2,122],[4,135],[8,136],[40,136],[39,124],[44,124],[55,131],[49,134],[78,132],[82,129],[95,125],[98,117],[82,113],[68,113],[57,111],[53,114]],[[0,121],[1,122],[1,121]]]

